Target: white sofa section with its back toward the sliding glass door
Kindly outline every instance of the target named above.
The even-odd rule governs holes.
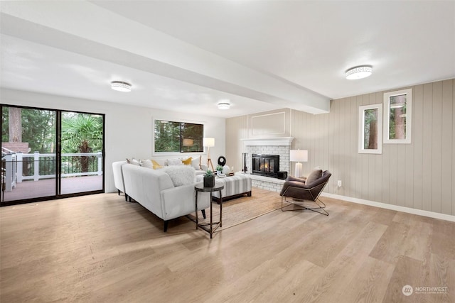
[[[128,164],[126,161],[112,163],[115,187],[124,192],[125,197],[134,199],[156,216],[164,220],[164,231],[168,221],[179,216],[186,216],[195,211],[196,178],[191,184],[174,185],[176,182],[165,170],[154,170],[139,165]],[[183,167],[184,168],[184,167]],[[188,169],[193,170],[191,167]],[[194,174],[194,170],[193,170]],[[195,174],[196,175],[196,174]],[[123,190],[122,190],[123,189]],[[198,197],[198,211],[210,207],[210,196]]]

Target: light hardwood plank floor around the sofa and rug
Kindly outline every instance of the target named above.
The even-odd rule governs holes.
[[[455,302],[455,223],[323,201],[212,240],[117,194],[2,207],[0,302]]]

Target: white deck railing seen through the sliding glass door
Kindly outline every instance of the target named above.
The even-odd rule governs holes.
[[[11,192],[23,180],[38,181],[55,178],[55,153],[9,153],[1,158],[1,183]],[[102,153],[64,153],[62,177],[102,175]]]

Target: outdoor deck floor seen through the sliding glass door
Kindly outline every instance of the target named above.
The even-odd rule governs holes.
[[[102,189],[102,176],[68,177],[62,179],[62,194]],[[55,195],[55,179],[17,183],[11,192],[3,192],[1,202]]]

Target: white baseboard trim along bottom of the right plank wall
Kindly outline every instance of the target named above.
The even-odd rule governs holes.
[[[340,194],[328,194],[326,192],[322,192],[321,196],[338,199],[338,200],[343,200],[343,201],[347,201],[347,202],[375,206],[375,207],[379,207],[381,209],[391,209],[393,211],[402,211],[402,212],[405,212],[408,214],[417,214],[419,216],[428,216],[428,217],[434,218],[434,219],[441,219],[441,220],[455,222],[455,216],[451,216],[449,214],[440,214],[440,213],[437,213],[434,211],[424,211],[422,209],[411,209],[410,207],[393,205],[393,204],[385,204],[385,203],[374,202],[374,201],[370,201],[370,200],[358,199],[358,198],[353,198],[353,197],[346,197],[346,196],[341,196]]]

